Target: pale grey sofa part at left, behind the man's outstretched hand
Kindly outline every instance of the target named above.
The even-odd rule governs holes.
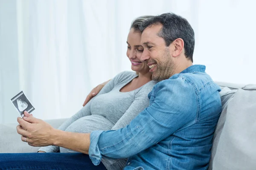
[[[67,119],[46,120],[54,128],[58,128]],[[37,152],[40,147],[32,147],[22,142],[17,133],[18,124],[0,124],[0,153],[30,153]]]

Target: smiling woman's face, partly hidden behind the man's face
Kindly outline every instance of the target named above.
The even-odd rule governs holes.
[[[149,67],[147,62],[141,62],[140,57],[143,52],[143,47],[140,45],[141,33],[139,31],[134,32],[134,28],[131,28],[127,37],[127,52],[126,55],[131,61],[131,69],[139,73],[147,73]]]

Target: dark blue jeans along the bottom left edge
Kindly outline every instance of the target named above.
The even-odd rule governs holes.
[[[0,170],[106,170],[83,153],[0,153]]]

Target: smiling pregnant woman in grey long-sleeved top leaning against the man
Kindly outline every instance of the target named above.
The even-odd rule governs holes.
[[[139,17],[133,21],[127,38],[127,57],[131,69],[111,79],[99,94],[84,108],[64,122],[59,129],[90,133],[93,130],[117,130],[128,125],[138,113],[148,107],[148,93],[156,82],[151,81],[151,73],[146,62],[140,62],[143,47],[140,45],[140,24],[151,16]],[[75,153],[58,146],[41,147],[38,152]],[[126,159],[102,159],[108,170],[118,170],[125,166]],[[102,165],[100,165],[102,166]]]

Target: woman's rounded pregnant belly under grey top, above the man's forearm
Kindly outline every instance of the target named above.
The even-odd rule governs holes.
[[[91,133],[94,130],[111,130],[112,122],[101,115],[84,116],[73,122],[65,131],[76,133]]]

